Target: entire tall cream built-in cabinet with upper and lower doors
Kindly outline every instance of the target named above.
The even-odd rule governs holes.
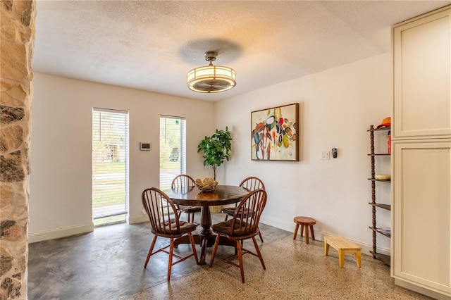
[[[451,299],[451,6],[392,30],[391,275]]]

